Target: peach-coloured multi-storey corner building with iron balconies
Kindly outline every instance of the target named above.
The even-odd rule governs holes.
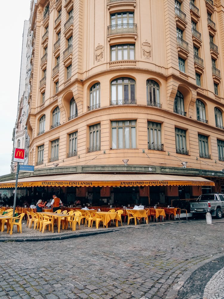
[[[86,185],[33,186],[116,205],[224,190],[223,5],[37,0],[28,164]]]

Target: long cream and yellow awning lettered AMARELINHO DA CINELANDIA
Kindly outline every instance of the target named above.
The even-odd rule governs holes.
[[[16,180],[3,181],[0,188],[15,188]],[[18,179],[17,187],[134,187],[134,186],[214,186],[201,177],[163,174],[92,174],[76,173],[57,176],[31,176]]]

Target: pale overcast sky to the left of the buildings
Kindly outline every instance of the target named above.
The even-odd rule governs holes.
[[[10,173],[13,128],[16,122],[24,20],[29,20],[30,0],[1,3],[0,72],[0,176]],[[5,12],[5,13],[4,13]],[[10,17],[9,17],[10,16]]]

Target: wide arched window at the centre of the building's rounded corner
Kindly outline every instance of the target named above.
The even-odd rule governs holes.
[[[111,105],[136,104],[135,80],[118,78],[111,82]]]

